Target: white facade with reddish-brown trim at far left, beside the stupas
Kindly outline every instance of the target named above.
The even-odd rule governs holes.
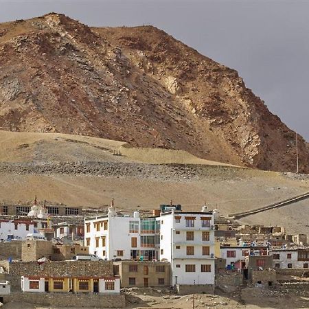
[[[13,238],[25,240],[28,233],[34,233],[32,221],[0,220],[0,240]]]

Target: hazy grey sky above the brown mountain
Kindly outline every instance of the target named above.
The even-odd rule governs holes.
[[[0,22],[48,12],[92,26],[155,25],[236,69],[309,141],[309,0],[0,0]]]

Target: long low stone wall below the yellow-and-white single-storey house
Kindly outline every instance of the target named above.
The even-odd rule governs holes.
[[[95,307],[124,308],[124,295],[98,294],[62,294],[62,293],[12,293],[3,297],[4,303],[15,301],[39,306],[56,306],[69,308]]]

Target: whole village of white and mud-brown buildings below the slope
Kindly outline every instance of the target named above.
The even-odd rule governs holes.
[[[243,286],[308,295],[305,234],[243,225],[207,205],[189,211],[171,201],[128,214],[113,200],[83,209],[35,198],[32,206],[1,205],[0,214],[4,304],[125,308],[137,288],[165,298]]]

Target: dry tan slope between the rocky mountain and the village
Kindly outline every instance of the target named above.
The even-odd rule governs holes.
[[[162,149],[126,148],[124,143],[95,137],[59,133],[13,133],[0,131],[0,164],[9,162],[106,161],[119,163],[198,163],[201,159],[185,152]],[[124,156],[113,156],[115,149],[130,150]],[[168,154],[166,154],[166,151]],[[154,159],[156,158],[156,159]],[[185,209],[200,209],[205,202],[222,214],[253,209],[295,196],[309,190],[308,177],[296,179],[278,172],[264,172],[237,167],[214,168],[214,162],[198,165],[207,176],[174,177],[163,172],[160,178],[148,176],[76,176],[71,174],[8,174],[0,175],[1,201],[18,203],[38,199],[100,207],[115,198],[118,209],[157,208],[159,204],[183,204]],[[303,179],[303,180],[301,180]],[[14,188],[14,190],[12,190]],[[271,215],[255,215],[255,222],[284,224],[290,231],[308,231],[308,203],[299,203],[272,211]],[[279,214],[279,216],[277,215]],[[293,218],[295,220],[289,220]],[[244,218],[244,222],[252,218]]]

